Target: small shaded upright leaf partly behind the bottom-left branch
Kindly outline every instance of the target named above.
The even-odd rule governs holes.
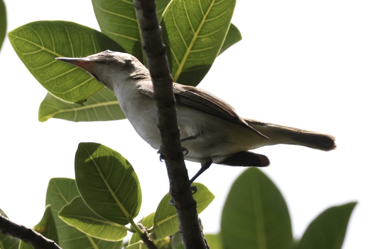
[[[36,226],[34,226],[33,229],[42,234],[44,237],[51,239],[58,244],[57,228],[55,220],[53,219],[50,205],[46,206],[42,220]],[[33,249],[33,247],[28,243],[21,241],[19,244],[19,249]]]

